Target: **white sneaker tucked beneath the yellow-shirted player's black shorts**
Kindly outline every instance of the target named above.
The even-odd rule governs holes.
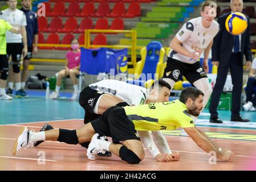
[[[105,140],[107,137],[100,137],[99,134],[94,134],[91,139],[91,143],[89,144],[87,148],[87,157],[90,160],[95,160],[95,156],[97,155],[98,152],[102,151],[103,148],[100,148],[100,141]]]

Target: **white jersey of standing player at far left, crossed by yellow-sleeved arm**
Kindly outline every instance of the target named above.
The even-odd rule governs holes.
[[[9,22],[11,26],[16,29],[21,29],[21,26],[27,26],[27,19],[25,13],[21,10],[10,11],[5,9],[2,11],[2,18]],[[14,34],[10,31],[6,31],[6,43],[22,43],[22,35]]]

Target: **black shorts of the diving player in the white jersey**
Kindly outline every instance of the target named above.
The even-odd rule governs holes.
[[[94,113],[94,107],[97,103],[97,100],[103,93],[98,93],[97,90],[91,89],[89,86],[84,88],[79,95],[79,104],[83,107],[84,114],[84,123],[88,123],[100,117],[100,114]]]

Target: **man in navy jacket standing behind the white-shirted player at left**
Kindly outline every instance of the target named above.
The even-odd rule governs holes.
[[[22,8],[26,14],[27,19],[27,56],[23,59],[23,70],[21,74],[21,88],[24,91],[26,80],[27,80],[27,73],[29,72],[29,63],[30,59],[32,58],[32,54],[35,55],[37,50],[37,43],[38,43],[38,20],[37,15],[34,11],[30,10],[31,0],[22,0]],[[34,43],[34,45],[33,45]],[[12,82],[11,78],[9,82]],[[26,93],[24,91],[24,93]]]

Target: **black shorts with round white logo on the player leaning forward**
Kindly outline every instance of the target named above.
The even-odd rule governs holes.
[[[168,57],[163,78],[170,78],[174,81],[178,81],[180,75],[185,76],[186,80],[192,84],[200,78],[207,78],[199,61],[193,64],[188,64]]]

